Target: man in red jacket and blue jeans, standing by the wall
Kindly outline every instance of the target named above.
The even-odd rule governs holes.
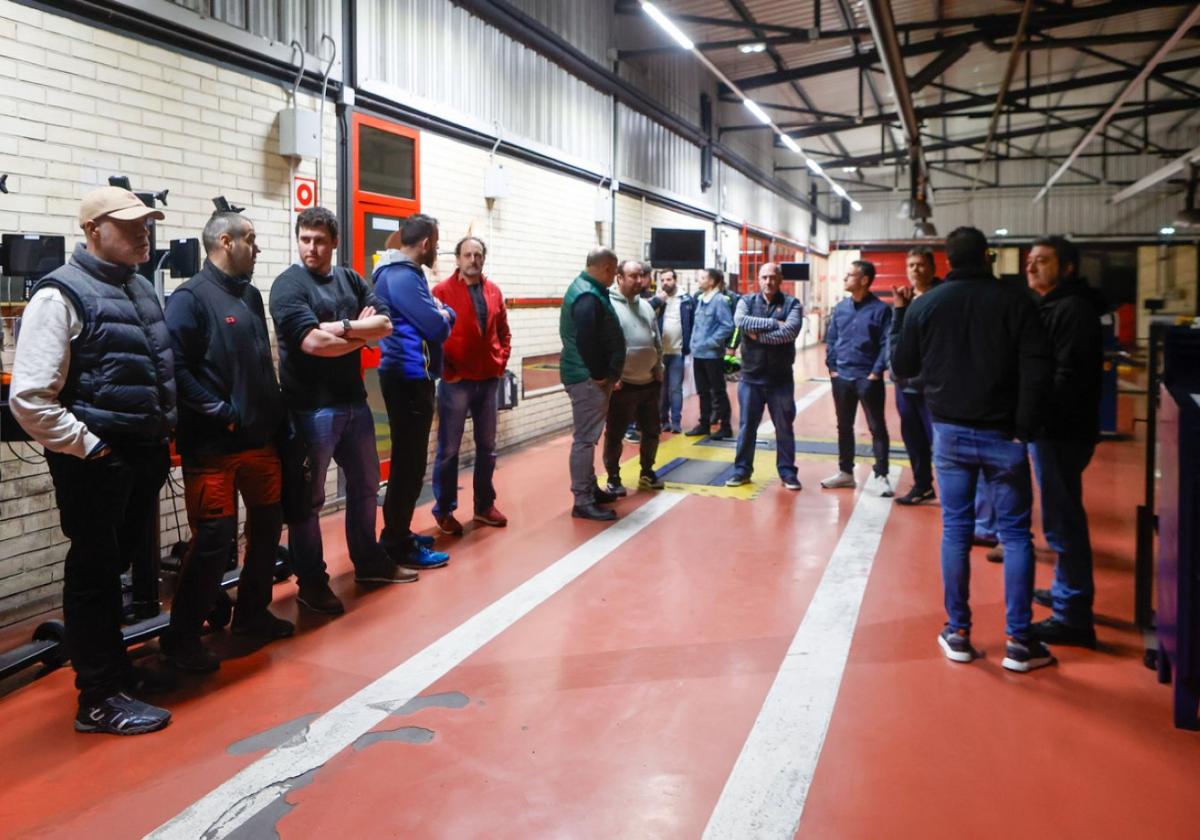
[[[470,415],[475,426],[475,521],[503,528],[496,508],[496,425],[499,378],[512,353],[512,334],[500,288],[484,276],[487,246],[466,236],[454,250],[457,270],[433,287],[433,296],[455,311],[454,329],[442,346],[438,384],[438,451],[433,457],[433,517],[443,534],[458,536],[458,449]]]

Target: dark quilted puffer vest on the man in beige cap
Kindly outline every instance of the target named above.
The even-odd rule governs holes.
[[[154,287],[83,245],[41,284],[61,289],[83,320],[59,401],[104,443],[166,443],[175,426],[175,356]]]

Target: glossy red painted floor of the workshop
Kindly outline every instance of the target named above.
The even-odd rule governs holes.
[[[826,395],[797,433],[832,431]],[[1196,836],[1200,734],[1171,727],[1128,624],[1140,464],[1138,444],[1105,443],[1087,473],[1100,649],[1056,648],[1060,665],[1032,674],[1000,667],[1001,575],[982,552],[986,658],[942,658],[937,508],[890,511],[797,836]],[[833,468],[802,458],[800,493],[688,496],[450,664],[427,708],[384,718],[235,836],[700,836],[856,506],[820,490]],[[497,480],[509,528],[444,540],[450,566],[386,590],[358,592],[335,553],[347,614],[300,614],[295,638],[258,650],[215,637],[221,672],[162,701],[161,733],[73,733],[68,670],[0,697],[0,836],[152,832],[286,739],[263,733],[329,712],[606,530],[569,516],[563,438],[502,456]],[[325,528],[336,552],[340,518]],[[276,587],[289,618],[294,592]]]

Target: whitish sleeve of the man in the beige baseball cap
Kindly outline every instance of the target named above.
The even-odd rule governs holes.
[[[13,416],[34,440],[78,458],[88,457],[101,443],[59,402],[71,368],[71,342],[82,331],[83,318],[60,289],[38,289],[22,316],[8,391]]]

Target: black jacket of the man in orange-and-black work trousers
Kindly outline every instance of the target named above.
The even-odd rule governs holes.
[[[230,277],[205,260],[167,299],[167,326],[179,380],[180,455],[228,455],[275,439],[283,397],[263,296],[250,278]]]

